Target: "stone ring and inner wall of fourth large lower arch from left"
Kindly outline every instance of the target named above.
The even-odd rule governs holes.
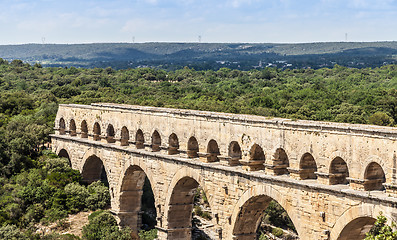
[[[199,172],[191,168],[182,168],[172,178],[164,208],[169,239],[191,239],[193,197],[199,186],[212,206],[212,195],[208,194],[205,181]]]

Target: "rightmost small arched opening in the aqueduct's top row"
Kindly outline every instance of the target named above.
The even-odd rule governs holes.
[[[368,164],[364,173],[364,190],[383,190],[384,182],[386,182],[386,177],[382,167],[376,162]]]

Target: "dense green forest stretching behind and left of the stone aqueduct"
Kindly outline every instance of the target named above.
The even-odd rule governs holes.
[[[394,126],[396,87],[397,65],[165,71],[42,67],[0,59],[0,239],[78,239],[43,235],[37,226],[62,224],[68,214],[98,209],[82,239],[130,238],[128,229],[120,230],[101,210],[109,205],[106,183],[85,184],[67,159],[46,150],[60,103],[115,102]],[[275,205],[268,211],[267,220],[281,210]],[[281,225],[291,224],[285,215],[275,221],[280,219]]]

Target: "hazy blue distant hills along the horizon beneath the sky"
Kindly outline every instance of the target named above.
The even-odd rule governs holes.
[[[378,67],[397,62],[397,42],[272,43],[93,43],[0,45],[0,58],[44,66],[157,67],[198,70]]]

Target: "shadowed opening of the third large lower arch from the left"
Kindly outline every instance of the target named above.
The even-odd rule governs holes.
[[[151,181],[145,171],[137,165],[129,166],[120,187],[120,225],[128,226],[135,232],[142,227],[145,230],[154,228],[157,215],[155,201]]]

